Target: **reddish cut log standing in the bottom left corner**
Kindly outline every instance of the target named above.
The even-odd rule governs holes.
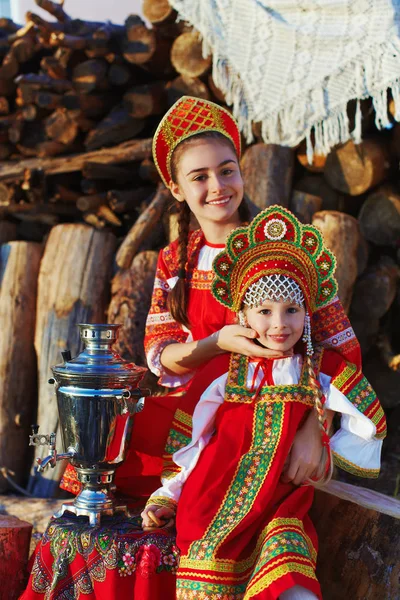
[[[17,600],[28,582],[28,557],[32,525],[17,517],[0,515],[1,597]]]

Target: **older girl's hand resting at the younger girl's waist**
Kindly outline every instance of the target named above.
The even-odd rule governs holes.
[[[295,435],[292,448],[286,459],[281,481],[301,485],[315,475],[320,468],[322,437],[318,417],[312,410],[303,427]]]

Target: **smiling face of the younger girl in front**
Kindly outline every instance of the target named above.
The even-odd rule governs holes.
[[[245,308],[244,314],[260,344],[270,350],[291,350],[303,335],[306,312],[297,304],[265,300],[260,306]]]

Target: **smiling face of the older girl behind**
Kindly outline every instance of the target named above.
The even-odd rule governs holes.
[[[179,155],[176,179],[171,183],[173,196],[188,203],[202,229],[210,223],[239,224],[243,179],[228,141],[192,140]]]

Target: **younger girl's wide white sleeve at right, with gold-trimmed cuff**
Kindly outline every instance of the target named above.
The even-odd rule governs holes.
[[[378,477],[382,440],[375,437],[374,423],[331,385],[328,375],[321,373],[319,380],[325,407],[341,413],[340,429],[330,441],[334,463],[353,475]]]

